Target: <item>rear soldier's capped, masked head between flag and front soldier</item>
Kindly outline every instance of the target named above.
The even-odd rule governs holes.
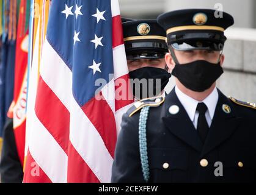
[[[165,30],[156,19],[134,19],[123,23],[123,38],[135,98],[165,95],[170,78],[164,60],[168,52]]]

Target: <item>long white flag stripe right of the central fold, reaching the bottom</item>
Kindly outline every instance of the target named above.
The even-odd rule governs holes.
[[[100,182],[110,182],[113,158],[97,129],[75,103],[70,112],[70,141]]]

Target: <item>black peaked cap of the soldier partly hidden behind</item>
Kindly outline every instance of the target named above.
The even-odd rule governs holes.
[[[156,19],[138,19],[123,23],[126,57],[161,59],[168,51],[166,32]]]

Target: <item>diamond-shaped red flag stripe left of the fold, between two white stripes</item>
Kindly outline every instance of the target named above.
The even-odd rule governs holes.
[[[38,80],[35,114],[68,155],[70,113],[42,77]]]

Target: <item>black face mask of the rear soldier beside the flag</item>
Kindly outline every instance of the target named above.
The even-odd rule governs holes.
[[[144,67],[129,73],[133,95],[138,99],[158,96],[164,90],[171,76],[165,69]]]

